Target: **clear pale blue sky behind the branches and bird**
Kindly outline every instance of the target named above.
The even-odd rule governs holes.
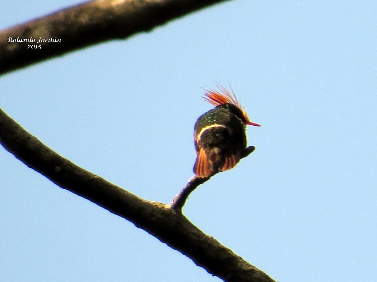
[[[8,1],[0,28],[73,1]],[[233,87],[256,151],[184,214],[277,281],[373,280],[377,265],[375,1],[238,0],[12,72],[0,106],[44,144],[169,203],[193,175],[201,96]],[[43,52],[43,47],[40,50]],[[221,281],[0,148],[0,277]]]

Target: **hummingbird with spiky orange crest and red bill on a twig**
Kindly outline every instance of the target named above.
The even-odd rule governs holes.
[[[203,98],[215,108],[199,116],[194,127],[193,171],[198,178],[235,167],[246,149],[246,125],[261,126],[250,121],[233,90],[218,88],[205,90]]]

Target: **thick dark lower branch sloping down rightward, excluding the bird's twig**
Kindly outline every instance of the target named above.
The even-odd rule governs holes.
[[[0,143],[28,167],[146,230],[227,282],[273,282],[170,205],[146,201],[78,167],[42,144],[0,109]],[[204,179],[205,180],[205,179]]]

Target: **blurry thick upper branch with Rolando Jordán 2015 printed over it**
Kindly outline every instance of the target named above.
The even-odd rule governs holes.
[[[226,0],[93,0],[0,31],[0,75],[108,40],[151,31]],[[9,38],[12,41],[8,42]],[[34,39],[34,42],[17,42]],[[57,42],[39,42],[51,38]],[[59,42],[59,39],[61,42]],[[41,45],[28,49],[28,45]]]

